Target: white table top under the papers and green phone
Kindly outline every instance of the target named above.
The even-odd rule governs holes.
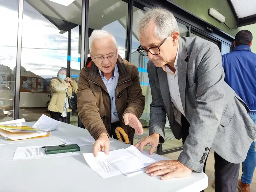
[[[34,122],[24,125],[32,126]],[[80,155],[30,160],[12,160],[17,147],[60,145],[61,138],[87,136],[86,129],[62,123],[61,128],[51,132],[50,137],[6,142],[0,138],[0,192],[199,192],[207,188],[204,173],[193,172],[187,178],[166,181],[141,173],[133,177],[118,175],[102,179],[86,163],[83,153],[92,152],[92,145],[81,146]],[[110,150],[130,145],[115,140]]]

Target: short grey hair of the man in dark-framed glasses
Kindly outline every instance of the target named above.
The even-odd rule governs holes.
[[[177,21],[170,11],[163,8],[153,8],[138,19],[138,38],[141,34],[147,35],[148,25],[152,22],[156,24],[154,33],[160,40],[168,38],[174,31],[179,32]]]

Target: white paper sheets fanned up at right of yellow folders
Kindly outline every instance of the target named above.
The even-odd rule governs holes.
[[[43,114],[32,127],[49,132],[59,128],[60,126],[61,121],[57,121]]]

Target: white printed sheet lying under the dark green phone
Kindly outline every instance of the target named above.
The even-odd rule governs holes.
[[[55,153],[55,154],[45,154],[45,149],[42,146],[35,147],[17,147],[13,156],[13,160],[21,159],[40,159],[47,157],[63,157],[63,156],[73,156],[79,155],[78,151],[67,152],[67,153]]]

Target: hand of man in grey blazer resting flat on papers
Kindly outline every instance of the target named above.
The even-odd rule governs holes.
[[[158,161],[146,168],[146,173],[151,177],[163,175],[161,180],[166,180],[174,177],[188,177],[192,170],[177,160]]]

